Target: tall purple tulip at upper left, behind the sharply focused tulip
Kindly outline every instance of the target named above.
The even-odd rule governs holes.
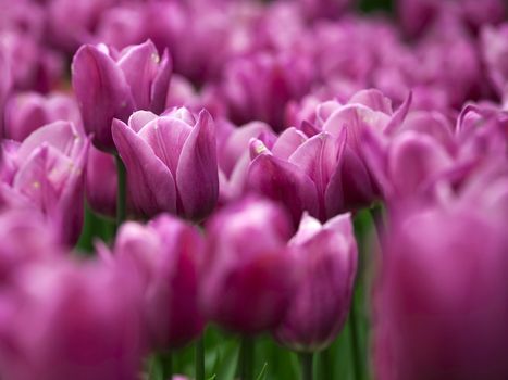
[[[86,45],[74,55],[72,74],[85,130],[94,134],[96,147],[114,151],[113,118],[126,122],[136,110],[164,111],[171,61],[168,52],[161,60],[150,40],[120,53]]]

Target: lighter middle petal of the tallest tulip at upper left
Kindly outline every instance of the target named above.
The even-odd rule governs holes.
[[[131,87],[136,110],[150,107],[151,84],[158,74],[159,60],[156,46],[150,40],[122,51],[117,65]]]

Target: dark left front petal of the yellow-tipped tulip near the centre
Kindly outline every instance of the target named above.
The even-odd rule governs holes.
[[[246,189],[286,205],[295,225],[303,211],[319,214],[318,191],[309,176],[294,164],[261,153],[250,164]]]

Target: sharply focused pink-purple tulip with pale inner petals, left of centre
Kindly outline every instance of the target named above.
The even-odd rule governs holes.
[[[197,119],[184,107],[160,117],[136,112],[128,125],[115,119],[112,132],[137,213],[170,212],[200,220],[213,211],[219,195],[215,127],[206,110]]]

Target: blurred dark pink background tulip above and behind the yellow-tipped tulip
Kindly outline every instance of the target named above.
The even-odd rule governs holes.
[[[221,90],[228,114],[236,124],[252,119],[284,129],[284,109],[299,100],[313,79],[311,62],[305,55],[260,52],[228,62]]]

